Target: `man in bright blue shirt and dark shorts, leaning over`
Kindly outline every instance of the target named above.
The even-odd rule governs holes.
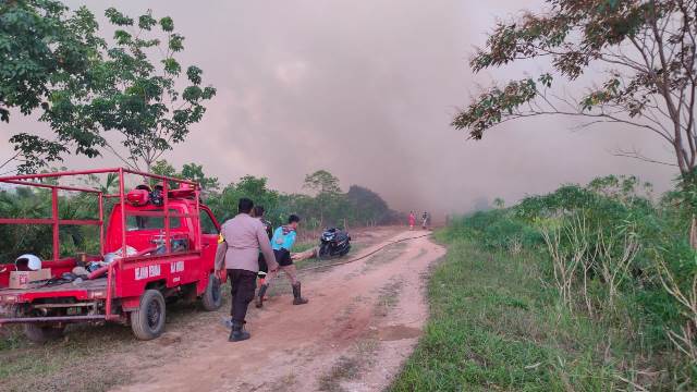
[[[288,224],[276,229],[273,237],[271,238],[271,247],[273,248],[276,260],[278,261],[280,269],[285,272],[285,275],[293,286],[293,305],[307,304],[307,299],[303,298],[301,295],[301,282],[297,280],[297,270],[295,269],[293,259],[291,258],[291,248],[293,247],[293,244],[295,244],[295,230],[297,229],[299,221],[301,218],[298,216],[290,216],[288,218]],[[266,282],[261,287],[259,287],[256,302],[256,306],[258,308],[264,306],[264,295],[266,294],[269,284],[277,275],[278,271],[269,272],[266,277]]]

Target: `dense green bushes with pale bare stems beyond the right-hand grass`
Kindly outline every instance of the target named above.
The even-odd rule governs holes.
[[[537,255],[530,260],[539,262],[541,283],[554,287],[562,308],[624,331],[626,350],[644,358],[636,371],[659,367],[689,390],[697,388],[689,197],[677,189],[657,203],[649,184],[610,175],[455,219],[442,237]]]

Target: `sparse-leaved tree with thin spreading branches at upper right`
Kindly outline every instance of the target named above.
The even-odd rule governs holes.
[[[571,115],[584,125],[624,124],[668,143],[685,175],[697,164],[697,0],[548,0],[545,14],[499,23],[470,61],[475,72],[525,59],[549,59],[551,70],[479,95],[453,120],[480,139],[510,120]],[[552,90],[557,76],[573,84],[589,70],[602,82],[577,99]],[[658,162],[640,151],[620,155]],[[663,162],[664,163],[664,162]]]

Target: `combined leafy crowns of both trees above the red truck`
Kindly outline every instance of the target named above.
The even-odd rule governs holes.
[[[65,154],[107,150],[147,171],[201,120],[216,89],[201,85],[195,65],[182,75],[184,37],[172,19],[150,11],[133,19],[113,8],[105,15],[114,27],[111,46],[86,8],[69,14],[59,1],[0,3],[0,120],[9,121],[10,108],[29,114],[40,106],[54,132],[13,135],[16,155],[2,166],[17,159],[20,172],[37,172]]]

